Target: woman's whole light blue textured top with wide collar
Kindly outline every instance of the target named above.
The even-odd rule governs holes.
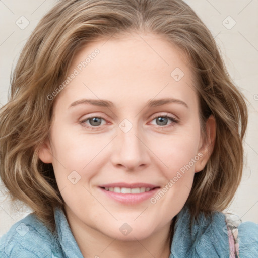
[[[56,236],[32,213],[15,223],[0,238],[0,258],[83,258],[62,210],[56,208],[54,216]],[[200,214],[191,230],[190,214],[186,206],[177,217],[169,258],[229,257],[223,213],[213,213],[207,220]],[[240,258],[258,257],[258,224],[241,223],[238,236]]]

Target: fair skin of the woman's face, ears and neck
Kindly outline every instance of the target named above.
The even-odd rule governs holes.
[[[50,137],[41,146],[39,158],[53,165],[84,257],[168,258],[169,226],[189,196],[194,174],[209,159],[214,118],[207,121],[209,141],[204,144],[198,96],[191,87],[193,74],[186,66],[189,60],[164,39],[152,34],[99,39],[80,50],[68,74],[96,48],[100,53],[55,99]],[[170,76],[175,68],[184,73],[179,81]],[[167,97],[185,102],[188,108],[179,103],[147,106],[149,100]],[[114,107],[78,104],[69,108],[82,98],[109,100]],[[168,119],[162,125],[156,118],[166,114],[177,122]],[[89,115],[103,118],[101,125],[94,127]],[[119,127],[124,119],[133,125],[126,133]],[[121,204],[98,188],[113,182],[165,187],[198,153],[202,158],[155,204],[150,200]],[[68,180],[74,170],[81,176],[76,184]],[[124,223],[132,228],[128,235],[119,230]]]

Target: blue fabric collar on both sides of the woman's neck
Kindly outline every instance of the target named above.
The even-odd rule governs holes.
[[[63,252],[67,257],[83,258],[63,211],[55,208],[54,215]],[[191,228],[187,206],[184,206],[176,217],[169,258],[207,257],[208,253],[216,253],[218,257],[229,257],[225,216],[222,213],[215,212],[207,218],[200,214]]]

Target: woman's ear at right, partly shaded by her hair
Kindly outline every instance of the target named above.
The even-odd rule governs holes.
[[[199,143],[198,153],[200,153],[200,155],[198,156],[200,157],[200,159],[195,164],[196,173],[204,169],[214,148],[216,138],[216,121],[213,115],[210,115],[210,117],[206,121],[206,135],[207,141],[204,142],[204,137],[201,137]]]

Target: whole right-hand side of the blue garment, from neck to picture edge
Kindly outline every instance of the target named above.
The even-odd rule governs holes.
[[[238,221],[239,220],[239,221]],[[223,212],[212,212],[205,216],[200,213],[191,222],[187,207],[178,214],[171,244],[172,257],[229,257],[232,251],[228,227],[238,232],[239,256],[256,257],[258,253],[258,225],[253,222],[241,222],[238,216],[228,217]]]

